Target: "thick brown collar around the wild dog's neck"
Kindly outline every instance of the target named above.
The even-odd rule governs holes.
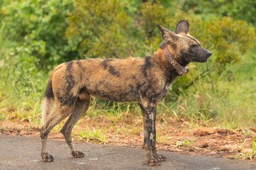
[[[185,64],[185,66],[182,66],[175,60],[174,54],[171,54],[166,42],[161,43],[161,45],[159,45],[159,47],[163,51],[166,59],[171,63],[171,65],[174,67],[174,69],[176,69],[176,72],[178,73],[178,75],[183,76],[188,73],[188,67],[186,67],[186,64]]]

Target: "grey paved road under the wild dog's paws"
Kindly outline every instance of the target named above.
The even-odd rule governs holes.
[[[143,149],[76,143],[84,158],[71,156],[64,141],[48,140],[53,162],[41,162],[41,140],[0,135],[0,169],[256,169],[256,162],[160,152],[161,166],[147,166]]]

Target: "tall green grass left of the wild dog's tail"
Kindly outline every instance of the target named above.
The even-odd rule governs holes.
[[[37,72],[31,61],[20,63],[20,56],[11,52],[0,55],[0,118],[28,120],[31,128],[40,127],[43,84],[48,75]]]

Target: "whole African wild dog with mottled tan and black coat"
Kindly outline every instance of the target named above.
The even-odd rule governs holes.
[[[160,165],[166,157],[156,153],[156,106],[178,76],[186,74],[189,62],[206,62],[212,53],[188,33],[188,21],[180,21],[176,33],[157,26],[164,42],[149,57],[76,60],[58,65],[50,75],[43,102],[41,128],[42,152],[45,162],[53,161],[46,140],[52,128],[68,117],[60,130],[73,157],[84,157],[75,149],[71,130],[87,111],[90,95],[105,100],[139,101],[144,120],[144,149],[150,166]],[[53,112],[53,103],[55,105]]]

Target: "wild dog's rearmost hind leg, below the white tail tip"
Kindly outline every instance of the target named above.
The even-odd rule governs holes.
[[[49,120],[47,120],[46,125],[41,128],[41,140],[42,140],[42,150],[41,150],[41,157],[43,162],[52,162],[53,156],[48,154],[46,142],[47,137],[50,133],[50,130],[52,130],[55,125],[60,123],[61,120],[66,118],[68,115],[70,115],[73,108],[70,108],[68,106],[60,107],[60,105],[55,104],[55,108],[53,110],[52,115],[50,116]]]

